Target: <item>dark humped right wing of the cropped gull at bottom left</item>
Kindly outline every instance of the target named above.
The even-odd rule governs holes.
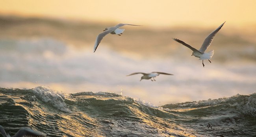
[[[46,135],[31,129],[23,128],[20,129],[13,137],[46,137]]]

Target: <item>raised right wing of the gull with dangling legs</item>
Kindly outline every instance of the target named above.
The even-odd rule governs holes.
[[[211,34],[209,34],[205,38],[204,43],[202,44],[202,47],[199,49],[200,52],[204,52],[211,45],[211,41],[213,40],[217,32],[221,29],[221,27],[224,25],[224,23],[222,23],[215,31],[211,32]]]

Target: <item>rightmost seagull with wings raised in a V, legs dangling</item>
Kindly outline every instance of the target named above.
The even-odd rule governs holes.
[[[225,23],[225,22],[224,22]],[[191,56],[195,56],[197,58],[199,58],[199,60],[202,60],[203,63],[203,67],[204,67],[204,59],[211,59],[211,57],[213,56],[214,50],[211,50],[210,52],[205,52],[205,50],[211,45],[211,41],[213,40],[214,36],[217,34],[217,32],[221,29],[221,27],[224,25],[224,23],[222,23],[215,31],[211,32],[204,40],[204,43],[202,44],[201,48],[199,50],[191,47],[190,45],[188,45],[187,43],[173,38],[173,40],[177,41],[178,43],[181,43],[182,45],[188,47],[189,49],[193,50],[193,53]],[[209,60],[210,61],[210,60]],[[211,63],[211,61],[210,61]]]

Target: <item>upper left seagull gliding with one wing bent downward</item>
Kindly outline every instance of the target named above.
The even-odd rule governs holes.
[[[106,36],[107,34],[117,34],[119,36],[121,36],[122,32],[124,32],[124,29],[119,29],[119,27],[122,27],[124,25],[132,25],[132,24],[123,24],[123,23],[120,23],[116,26],[113,26],[113,27],[107,27],[105,30],[103,30],[104,32],[100,33],[97,38],[96,38],[96,41],[95,41],[95,44],[94,44],[94,51],[96,51],[98,45],[100,44],[100,41],[103,39],[104,36]],[[141,26],[141,25],[132,25],[132,26]]]

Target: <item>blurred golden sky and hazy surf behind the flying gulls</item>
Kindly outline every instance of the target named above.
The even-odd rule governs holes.
[[[254,0],[1,0],[0,87],[115,92],[167,103],[256,91]],[[199,49],[223,22],[206,52],[209,61],[171,38]],[[96,36],[118,23],[122,36]],[[160,71],[156,81],[133,72]]]

